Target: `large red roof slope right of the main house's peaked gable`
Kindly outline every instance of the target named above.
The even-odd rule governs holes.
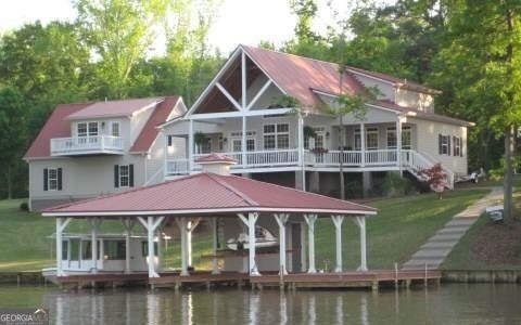
[[[242,46],[247,55],[291,96],[304,106],[316,107],[321,101],[313,89],[340,93],[339,65],[304,56]],[[343,93],[365,92],[364,86],[350,73],[343,77]]]

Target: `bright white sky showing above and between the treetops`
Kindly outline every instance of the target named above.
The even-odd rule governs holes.
[[[327,1],[318,1],[316,27],[319,30],[332,23]],[[332,3],[340,12],[341,8],[346,8],[345,0],[333,0]],[[217,15],[209,42],[223,53],[232,51],[239,43],[256,46],[262,40],[280,46],[293,36],[296,21],[288,0],[223,0]],[[48,23],[74,21],[75,16],[71,0],[0,0],[0,32],[36,20]]]

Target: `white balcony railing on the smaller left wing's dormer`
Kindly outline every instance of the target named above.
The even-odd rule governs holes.
[[[51,139],[51,155],[81,155],[91,153],[123,153],[125,139],[112,135]]]

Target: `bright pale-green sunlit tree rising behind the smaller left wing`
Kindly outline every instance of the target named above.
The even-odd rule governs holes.
[[[94,51],[98,96],[124,98],[132,69],[166,17],[168,0],[77,0],[78,24]]]

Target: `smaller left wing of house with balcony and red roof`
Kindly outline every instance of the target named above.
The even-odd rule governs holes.
[[[156,128],[185,114],[179,96],[59,105],[24,159],[33,210],[163,180]]]

